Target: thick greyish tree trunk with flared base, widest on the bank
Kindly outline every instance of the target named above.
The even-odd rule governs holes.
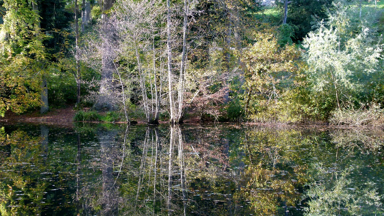
[[[113,103],[111,91],[113,91],[112,78],[113,71],[116,65],[113,61],[111,53],[111,43],[115,40],[115,33],[109,23],[108,13],[111,10],[115,0],[104,0],[102,5],[101,25],[102,25],[102,66],[101,66],[101,83],[100,91],[96,103],[93,105],[95,110],[116,110],[116,105]]]

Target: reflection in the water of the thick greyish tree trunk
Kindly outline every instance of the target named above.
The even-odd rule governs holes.
[[[116,215],[118,212],[118,206],[116,198],[118,187],[115,186],[115,179],[113,176],[113,143],[117,131],[98,131],[98,141],[101,147],[101,162],[103,164],[103,191],[101,198],[101,206],[103,215]]]

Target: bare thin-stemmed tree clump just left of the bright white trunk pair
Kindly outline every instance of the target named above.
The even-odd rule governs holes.
[[[164,71],[164,7],[160,1],[123,0],[112,15],[121,55],[136,61],[143,110],[150,124],[159,122]]]

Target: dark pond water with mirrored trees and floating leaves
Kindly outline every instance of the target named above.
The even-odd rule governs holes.
[[[0,125],[0,215],[383,215],[384,131]]]

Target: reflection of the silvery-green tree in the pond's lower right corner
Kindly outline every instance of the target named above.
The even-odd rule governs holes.
[[[351,169],[358,168],[356,166]],[[326,173],[324,168],[318,169],[320,174]],[[381,206],[382,197],[378,193],[377,184],[370,180],[353,182],[350,179],[351,172],[346,169],[333,183],[313,184],[306,192],[310,201],[309,207],[305,208],[305,216],[371,215],[372,210],[380,211],[374,207]]]

